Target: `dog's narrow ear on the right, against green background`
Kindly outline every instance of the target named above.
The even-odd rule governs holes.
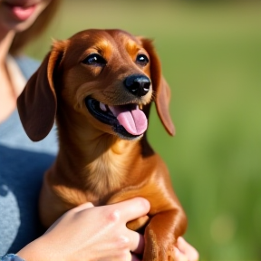
[[[175,127],[169,114],[170,88],[161,73],[160,59],[151,40],[145,38],[140,38],[140,40],[150,55],[150,78],[153,91],[156,93],[155,103],[160,121],[169,135],[174,136]]]

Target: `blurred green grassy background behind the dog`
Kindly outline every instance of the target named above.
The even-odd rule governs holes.
[[[154,39],[172,90],[176,137],[155,109],[149,138],[167,162],[200,260],[261,260],[261,3],[63,1],[51,38],[121,28]]]

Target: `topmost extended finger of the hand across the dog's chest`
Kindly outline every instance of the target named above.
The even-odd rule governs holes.
[[[120,203],[116,203],[117,208],[121,211],[121,218],[131,221],[136,218],[145,216],[150,211],[150,203],[145,198],[131,198]]]

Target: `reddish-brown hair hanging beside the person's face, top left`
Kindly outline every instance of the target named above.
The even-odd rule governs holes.
[[[23,32],[15,34],[9,53],[19,53],[25,44],[39,34],[42,34],[47,25],[52,21],[60,3],[61,0],[51,0],[50,4],[47,5],[43,12],[36,18],[34,24]]]

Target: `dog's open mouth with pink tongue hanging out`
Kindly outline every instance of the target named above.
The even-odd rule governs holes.
[[[106,105],[92,97],[85,104],[94,118],[111,125],[112,130],[125,139],[139,138],[148,128],[148,120],[138,104]]]

